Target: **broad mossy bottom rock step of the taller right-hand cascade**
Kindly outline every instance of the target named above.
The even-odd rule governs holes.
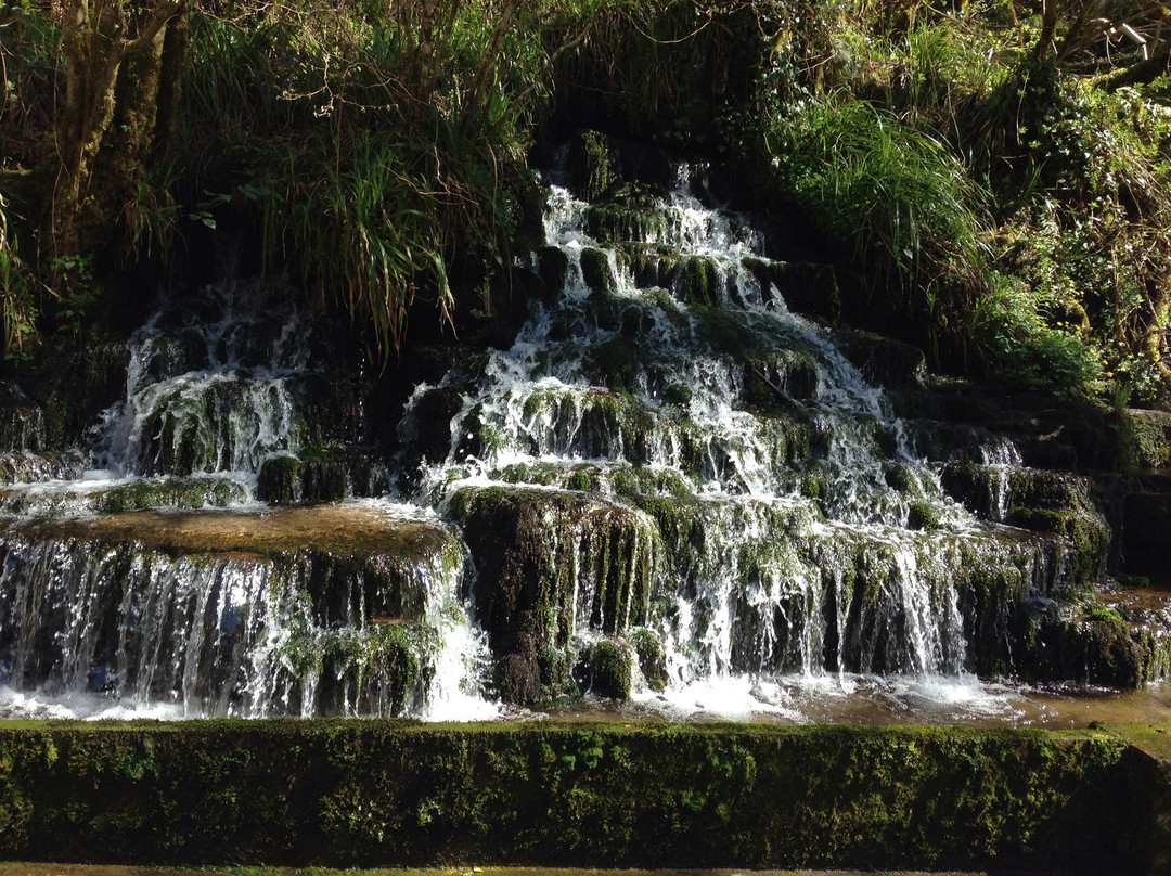
[[[1136,686],[1167,672],[1167,620],[1143,628],[1078,596],[1082,557],[1061,533],[900,533],[827,523],[797,498],[511,485],[458,487],[447,513],[514,702],[581,684],[570,673],[582,659],[604,664],[587,669],[609,696],[623,696],[616,661],[637,658],[648,682],[662,680],[653,653],[665,642],[765,675],[975,671]]]

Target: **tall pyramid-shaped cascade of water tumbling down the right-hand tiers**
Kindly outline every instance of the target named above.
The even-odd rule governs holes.
[[[566,534],[563,515],[543,532],[556,579],[570,579],[557,635],[587,653],[650,627],[665,671],[651,690],[636,669],[634,696],[667,713],[794,717],[794,692],[826,679],[982,699],[974,671],[1011,665],[1012,604],[1063,586],[1062,547],[978,523],[945,494],[883,392],[761,281],[760,235],[701,205],[690,170],[624,210],[577,200],[549,176],[537,269],[555,266],[563,287],[480,374],[457,368],[416,391],[409,447],[412,406],[463,392],[445,458],[422,465],[424,501],[474,527],[466,508],[493,490],[519,505],[588,490],[628,508],[630,534],[650,519],[641,543],[658,543],[641,573],[624,570],[638,564],[634,548],[605,567],[614,538],[600,553],[596,536]],[[648,594],[617,623],[601,610],[614,579]],[[488,602],[481,614],[498,614]]]

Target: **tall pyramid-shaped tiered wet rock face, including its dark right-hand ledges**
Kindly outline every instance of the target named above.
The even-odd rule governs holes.
[[[1164,671],[1162,630],[1078,620],[1111,535],[1090,480],[1026,467],[997,431],[1012,412],[936,391],[919,350],[794,316],[836,319],[830,266],[767,260],[685,171],[632,179],[615,149],[570,146],[567,186],[594,203],[549,194],[559,294],[479,376],[408,406],[417,440],[420,413],[445,425],[415,458],[464,531],[506,699],[616,696],[628,664],[636,687]],[[1090,446],[1029,429],[1053,458]]]

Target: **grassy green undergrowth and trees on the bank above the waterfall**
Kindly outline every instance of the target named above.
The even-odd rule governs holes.
[[[417,7],[101,0],[122,20],[112,39],[96,14],[63,25],[9,5],[5,355],[118,319],[125,266],[231,226],[266,269],[349,312],[385,363],[409,323],[505,307],[512,253],[540,244],[527,151],[568,123],[732,169],[748,206],[795,204],[829,256],[810,269],[838,268],[809,313],[910,341],[937,368],[1116,406],[1171,397],[1162,7]],[[1102,20],[1145,34],[1151,61],[1108,45]],[[119,64],[87,54],[102,39]],[[578,137],[570,163],[602,239],[662,223],[604,136]],[[711,300],[701,260],[621,258]],[[771,279],[799,299],[793,271]]]

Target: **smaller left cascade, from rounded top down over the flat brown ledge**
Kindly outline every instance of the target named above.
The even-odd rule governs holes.
[[[456,532],[385,499],[256,500],[268,460],[362,430],[314,361],[336,345],[294,300],[266,282],[167,297],[131,338],[93,451],[4,488],[0,709],[495,714]],[[348,492],[384,494],[379,479]],[[180,511],[213,506],[227,509]]]

